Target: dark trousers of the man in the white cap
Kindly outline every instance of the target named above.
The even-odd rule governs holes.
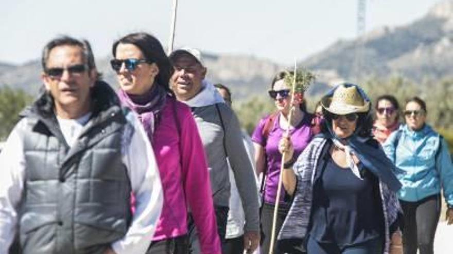
[[[214,210],[216,212],[217,232],[219,234],[220,244],[222,245],[223,248],[226,235],[226,222],[228,220],[228,211],[230,210],[230,208],[225,206],[214,206]],[[189,236],[189,253],[201,254],[202,252],[200,247],[200,241],[198,240],[198,232],[191,214],[189,214],[187,225],[188,225],[187,234]]]

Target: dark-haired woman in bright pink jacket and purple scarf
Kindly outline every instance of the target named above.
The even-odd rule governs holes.
[[[150,34],[132,33],[116,41],[112,53],[119,99],[145,127],[164,190],[164,207],[147,253],[187,253],[188,209],[203,253],[221,253],[203,144],[190,108],[169,88],[173,67],[161,43]]]

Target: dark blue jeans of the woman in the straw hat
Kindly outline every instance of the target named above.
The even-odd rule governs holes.
[[[336,244],[319,243],[313,238],[308,239],[307,252],[313,254],[381,254],[382,240],[373,239],[363,244],[340,249]]]

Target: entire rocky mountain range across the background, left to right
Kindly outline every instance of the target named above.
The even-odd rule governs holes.
[[[363,45],[362,47],[359,47]],[[357,49],[361,50],[357,50]],[[356,53],[361,52],[362,57]],[[249,55],[203,55],[208,79],[232,87],[235,99],[263,94],[274,73],[282,69],[269,60]],[[108,61],[98,58],[98,69],[104,79],[116,86]],[[400,27],[383,27],[362,38],[338,41],[300,63],[315,71],[318,84],[310,93],[325,91],[326,84],[356,77],[387,77],[399,74],[419,82],[429,77],[437,80],[450,76],[453,70],[453,0],[439,3],[429,12]],[[39,90],[39,61],[21,66],[0,63],[0,86],[21,87],[31,94]]]

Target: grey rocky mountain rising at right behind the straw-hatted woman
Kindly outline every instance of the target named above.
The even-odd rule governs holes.
[[[361,43],[363,48],[358,51]],[[361,58],[356,57],[357,52]],[[453,1],[435,5],[411,24],[338,41],[303,64],[318,70],[324,79],[400,74],[422,81],[449,76],[453,69]]]

